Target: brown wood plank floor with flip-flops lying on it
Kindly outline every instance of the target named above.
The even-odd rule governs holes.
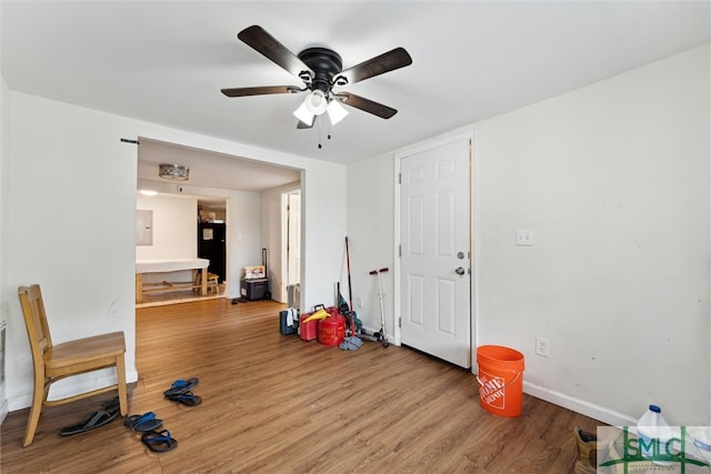
[[[24,448],[28,410],[10,413],[2,473],[572,473],[573,427],[599,424],[528,395],[520,417],[492,415],[469,371],[394,345],[342,351],[281,335],[281,307],[208,300],[137,310],[130,413],[154,412],[178,446],[156,454],[120,418],[58,435],[104,394],[47,409]],[[201,405],[164,399],[192,376]]]

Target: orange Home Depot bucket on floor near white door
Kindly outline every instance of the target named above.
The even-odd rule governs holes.
[[[479,404],[500,416],[519,416],[523,407],[523,354],[502,345],[477,349]]]

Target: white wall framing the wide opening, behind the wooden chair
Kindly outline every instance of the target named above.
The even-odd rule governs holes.
[[[346,194],[344,191],[334,193],[321,184],[328,181],[334,189],[344,190],[344,165],[19,92],[11,91],[8,97],[10,114],[3,118],[3,127],[9,124],[10,147],[2,160],[12,180],[8,180],[7,203],[3,203],[8,212],[2,219],[7,241],[2,248],[1,301],[9,302],[10,310],[7,361],[10,410],[29,406],[32,390],[31,355],[17,296],[17,288],[21,284],[37,282],[42,285],[50,326],[58,343],[100,332],[123,331],[128,344],[128,377],[129,381],[138,379],[134,345],[137,147],[122,143],[121,138],[150,137],[302,169],[304,181],[308,181],[304,183],[304,228],[309,229],[310,235],[317,236],[306,241],[303,278],[308,284],[302,289],[302,296],[312,305],[330,295],[331,275],[338,273],[346,232]],[[252,194],[242,196],[243,204],[229,204],[229,212],[237,209],[243,215],[240,205],[244,205],[256,213],[246,218],[247,221],[230,215],[228,219],[233,224],[230,239],[253,223],[253,219],[259,221],[259,194]],[[81,214],[73,213],[77,203],[81,203]],[[337,214],[342,218],[321,219]],[[247,242],[247,249],[231,242],[231,253],[241,261],[253,259],[251,253],[247,254],[253,251],[252,248],[261,259],[259,230],[249,235],[256,236],[253,242]],[[66,381],[58,390],[72,393],[79,385],[97,386],[112,376],[104,375]],[[50,397],[54,393],[50,393]]]

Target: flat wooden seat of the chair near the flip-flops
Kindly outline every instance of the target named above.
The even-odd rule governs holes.
[[[62,367],[82,363],[94,363],[106,359],[111,364],[116,356],[126,352],[126,341],[122,332],[94,335],[76,341],[57,344],[44,354],[44,367],[48,375]]]

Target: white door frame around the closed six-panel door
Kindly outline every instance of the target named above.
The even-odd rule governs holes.
[[[402,242],[402,235],[400,233],[400,220],[402,219],[402,213],[401,213],[401,202],[400,202],[400,172],[401,172],[401,162],[403,159],[415,154],[415,153],[420,153],[423,151],[429,151],[439,147],[442,147],[444,144],[454,142],[454,141],[460,141],[460,140],[469,140],[470,145],[469,145],[469,153],[470,153],[470,165],[469,165],[469,239],[470,239],[470,252],[471,252],[471,258],[470,258],[470,268],[471,268],[471,288],[469,291],[469,296],[470,296],[470,301],[469,301],[469,313],[471,316],[471,322],[470,322],[470,357],[471,357],[471,371],[474,372],[475,371],[475,347],[479,343],[479,332],[478,332],[478,325],[477,325],[477,295],[479,294],[478,292],[478,286],[479,286],[479,259],[478,259],[478,239],[477,239],[477,181],[475,178],[478,177],[477,173],[477,159],[475,159],[475,153],[474,153],[474,132],[473,131],[468,131],[468,132],[463,132],[463,133],[458,133],[458,134],[452,134],[452,135],[448,135],[448,137],[440,137],[440,138],[435,138],[432,140],[428,140],[425,142],[415,144],[413,147],[409,147],[405,149],[401,149],[395,151],[394,157],[393,157],[393,161],[394,161],[394,177],[393,177],[393,188],[394,188],[394,219],[393,219],[393,255],[394,255],[394,264],[393,264],[393,339],[394,339],[394,344],[395,345],[401,345],[401,329],[400,329],[400,317],[401,317],[401,312],[402,312],[402,307],[400,304],[400,297],[401,297],[401,279],[402,279],[402,273],[401,273],[401,260],[400,260],[400,243]]]

